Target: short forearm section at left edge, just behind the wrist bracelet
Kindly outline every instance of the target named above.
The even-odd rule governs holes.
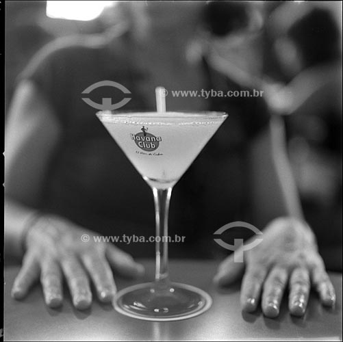
[[[36,210],[5,198],[5,255],[23,257],[23,238]]]

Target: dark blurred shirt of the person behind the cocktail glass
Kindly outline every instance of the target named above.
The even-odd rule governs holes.
[[[151,189],[99,122],[97,109],[81,98],[81,92],[93,83],[116,81],[131,91],[131,101],[123,110],[155,111],[140,91],[146,75],[130,60],[127,34],[111,41],[111,49],[106,38],[55,41],[42,49],[21,75],[45,95],[63,128],[44,180],[40,209],[103,235],[151,236],[155,234]],[[203,70],[209,90],[243,89],[205,60]],[[88,97],[97,103],[106,97],[118,103],[125,95],[103,87]],[[173,189],[169,235],[184,235],[186,242],[170,244],[172,257],[183,255],[173,255],[173,248],[188,252],[186,255],[208,257],[215,245],[214,231],[232,221],[249,220],[252,171],[246,151],[268,123],[266,105],[261,97],[216,97],[209,98],[207,109],[226,111],[229,118]],[[118,246],[136,256],[153,255],[153,244]]]

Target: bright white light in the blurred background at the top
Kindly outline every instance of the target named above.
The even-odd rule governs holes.
[[[49,18],[91,21],[116,1],[47,1]]]

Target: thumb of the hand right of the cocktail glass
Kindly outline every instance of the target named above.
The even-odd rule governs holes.
[[[236,254],[236,258],[235,258]],[[243,250],[238,248],[234,253],[222,261],[218,266],[218,272],[214,276],[214,283],[218,286],[231,285],[236,282],[244,273]],[[236,259],[236,261],[235,261]]]

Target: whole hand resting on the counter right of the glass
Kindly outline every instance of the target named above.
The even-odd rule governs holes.
[[[255,311],[262,297],[264,315],[277,317],[283,293],[288,287],[290,313],[302,316],[311,285],[323,305],[335,304],[335,290],[318,254],[314,233],[307,224],[279,218],[266,227],[262,238],[260,244],[244,252],[244,263],[235,263],[232,254],[220,263],[214,277],[217,285],[225,286],[244,273],[240,295],[244,311]],[[238,248],[235,253],[242,254],[242,249]]]

